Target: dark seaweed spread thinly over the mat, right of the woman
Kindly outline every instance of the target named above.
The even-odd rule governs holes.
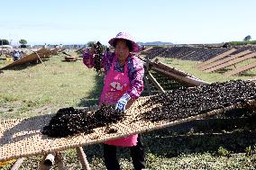
[[[235,103],[247,104],[256,99],[256,85],[251,81],[233,80],[197,87],[180,87],[167,94],[156,94],[141,107],[159,105],[141,115],[144,121],[177,121],[214,111]],[[247,105],[248,106],[248,105]],[[248,106],[249,107],[249,106]]]

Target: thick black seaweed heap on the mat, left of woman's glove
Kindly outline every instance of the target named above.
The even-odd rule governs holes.
[[[103,104],[96,112],[85,109],[62,108],[53,116],[42,134],[54,138],[73,136],[78,133],[92,133],[93,129],[122,121],[123,112],[116,111],[110,105]]]

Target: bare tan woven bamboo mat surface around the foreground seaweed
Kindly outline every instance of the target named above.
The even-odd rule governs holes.
[[[48,125],[54,114],[42,115],[28,119],[0,121],[0,161],[102,143],[107,139],[116,139],[133,133],[157,130],[228,111],[236,107],[242,107],[241,104],[234,104],[213,112],[198,114],[197,116],[187,117],[186,119],[178,121],[159,121],[153,123],[151,121],[142,121],[138,119],[142,112],[151,111],[153,107],[158,107],[158,105],[143,109],[138,107],[149,99],[150,97],[140,97],[135,103],[133,103],[131,108],[127,110],[127,116],[125,116],[125,119],[122,122],[115,123],[109,127],[97,128],[91,134],[79,134],[71,138],[54,139],[41,134],[41,130],[45,125]],[[249,101],[249,103],[256,105],[255,101]],[[117,131],[107,134],[109,129]]]

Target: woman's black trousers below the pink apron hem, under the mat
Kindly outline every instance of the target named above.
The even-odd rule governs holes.
[[[142,144],[142,136],[138,135],[138,143],[134,147],[129,147],[135,170],[145,168],[145,152]],[[113,145],[104,144],[104,161],[107,170],[120,170],[119,162],[116,157],[116,147]]]

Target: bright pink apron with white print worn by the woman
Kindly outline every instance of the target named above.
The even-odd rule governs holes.
[[[115,56],[113,58],[112,66],[109,72],[105,75],[104,87],[100,97],[100,103],[115,104],[130,88],[130,81],[128,77],[127,64],[124,65],[124,72],[117,72],[114,70]],[[138,134],[130,135],[121,139],[113,139],[105,141],[105,144],[120,146],[120,147],[133,147],[137,145]]]

